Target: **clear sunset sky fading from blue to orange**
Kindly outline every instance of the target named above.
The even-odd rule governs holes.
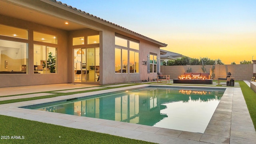
[[[60,1],[190,58],[219,58],[224,64],[256,60],[256,0]]]

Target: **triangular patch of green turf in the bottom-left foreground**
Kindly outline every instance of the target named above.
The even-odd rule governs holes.
[[[0,115],[0,134],[1,144],[153,144],[3,115]]]

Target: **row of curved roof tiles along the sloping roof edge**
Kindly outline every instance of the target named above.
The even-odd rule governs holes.
[[[146,37],[146,36],[143,36],[142,34],[139,34],[139,33],[137,33],[137,32],[134,32],[134,31],[129,30],[129,29],[127,29],[127,28],[124,28],[124,27],[122,27],[122,26],[119,26],[118,24],[114,24],[114,23],[112,23],[112,22],[109,22],[109,21],[104,20],[104,19],[102,19],[102,18],[99,18],[99,17],[97,17],[97,16],[94,16],[94,15],[92,15],[92,14],[89,14],[89,13],[87,13],[87,12],[84,12],[84,11],[82,11],[82,10],[79,10],[79,9],[77,9],[77,8],[74,8],[74,7],[72,7],[72,6],[68,6],[67,4],[64,4],[64,3],[60,2],[60,1],[57,1],[57,0],[51,0],[51,1],[52,1],[52,2],[56,2],[57,4],[60,4],[60,5],[62,5],[62,6],[66,6],[67,8],[70,8],[70,9],[75,10],[75,11],[77,11],[77,12],[81,12],[82,14],[85,14],[85,15],[87,15],[87,16],[91,16],[92,18],[95,18],[95,19],[97,19],[97,20],[102,20],[103,22],[106,22],[107,24],[111,24],[111,25],[116,26],[116,27],[118,27],[118,28],[122,28],[122,29],[124,29],[124,30],[126,30],[126,31],[128,31],[128,32],[132,32],[132,33],[134,33],[134,34],[136,34],[136,35],[142,36],[143,38],[146,38],[146,39],[148,39],[148,40],[152,40],[152,41],[154,41],[154,42],[160,43],[160,44],[162,44],[163,46],[167,46],[167,45],[168,45],[168,44],[159,42],[159,41],[157,41],[157,40],[154,40],[154,39],[152,39],[152,38],[148,38],[148,37]]]

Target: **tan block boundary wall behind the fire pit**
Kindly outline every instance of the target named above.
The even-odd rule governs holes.
[[[212,75],[212,65],[204,66],[207,72]],[[203,72],[202,65],[186,65],[186,66],[161,66],[161,72],[163,74],[170,75],[171,79],[178,78],[186,70],[192,68],[192,72]],[[230,64],[230,65],[215,65],[215,80],[219,75],[226,75],[227,72],[231,72],[235,80],[251,80],[253,76],[253,64]]]

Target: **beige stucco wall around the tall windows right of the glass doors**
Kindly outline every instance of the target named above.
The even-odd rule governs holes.
[[[113,30],[113,31],[112,31]],[[134,38],[140,41],[140,61],[139,61],[139,73],[115,73],[115,33],[122,34],[124,36],[128,36],[130,38]],[[142,60],[147,60],[147,55],[150,52],[158,54],[160,56],[160,48],[156,44],[152,42],[148,42],[143,40],[142,38],[132,36],[130,34],[126,34],[124,32],[106,28],[106,30],[102,31],[102,81],[100,84],[112,84],[112,83],[120,83],[120,82],[132,82],[132,81],[140,81],[140,80],[150,80],[156,77],[156,73],[147,73],[147,66],[142,65]],[[129,58],[128,58],[129,59]],[[101,73],[100,73],[101,75]],[[100,77],[101,78],[101,77]]]

